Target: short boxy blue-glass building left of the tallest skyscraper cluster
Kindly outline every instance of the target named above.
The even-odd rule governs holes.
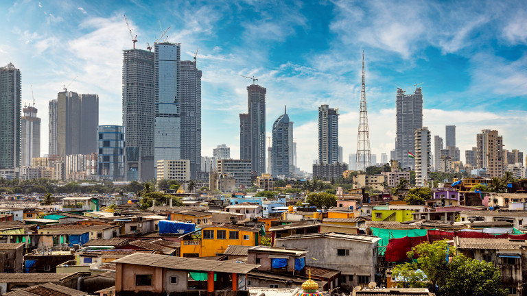
[[[120,125],[99,125],[99,165],[101,179],[124,180],[124,128]]]

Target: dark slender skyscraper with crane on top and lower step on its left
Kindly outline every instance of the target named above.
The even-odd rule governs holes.
[[[266,88],[247,86],[248,113],[239,114],[239,157],[256,175],[266,170]]]

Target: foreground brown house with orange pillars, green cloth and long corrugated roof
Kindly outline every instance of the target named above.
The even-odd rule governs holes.
[[[247,289],[247,273],[258,265],[133,254],[115,260],[115,295],[169,295],[200,291],[235,296]]]

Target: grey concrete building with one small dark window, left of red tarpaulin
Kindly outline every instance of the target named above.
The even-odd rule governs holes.
[[[309,251],[306,264],[341,272],[341,286],[352,290],[375,281],[377,236],[360,234],[304,234],[277,238],[277,247]]]

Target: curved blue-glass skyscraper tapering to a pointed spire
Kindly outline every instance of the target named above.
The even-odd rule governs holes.
[[[272,125],[272,176],[290,177],[292,125],[287,110]]]

